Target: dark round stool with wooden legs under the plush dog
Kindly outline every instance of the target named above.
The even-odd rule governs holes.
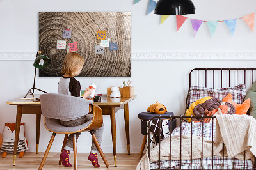
[[[141,120],[141,134],[144,135],[144,139],[143,139],[143,142],[142,142],[139,158],[142,157],[143,151],[144,151],[144,148],[145,148],[145,145],[146,145],[146,142],[147,142],[147,121],[149,121],[151,118],[153,118],[155,116],[159,116],[159,115],[161,115],[161,116],[170,116],[170,115],[174,116],[173,112],[166,112],[164,114],[154,114],[154,113],[151,113],[151,112],[141,112],[141,113],[138,114],[138,118]],[[167,119],[167,118],[163,118],[163,120],[164,119]],[[172,127],[171,127],[170,132],[172,132],[172,130],[174,130],[176,128],[176,119],[173,119],[171,121],[172,121]]]

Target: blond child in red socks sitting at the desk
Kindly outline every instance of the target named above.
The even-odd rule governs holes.
[[[64,75],[60,78],[59,85],[58,85],[58,91],[60,94],[65,94],[65,95],[71,95],[75,97],[80,97],[80,82],[77,81],[74,76],[77,76],[81,73],[81,70],[84,65],[84,58],[75,53],[75,52],[70,52],[65,56],[64,63],[63,63],[63,68],[61,73]],[[83,98],[88,100],[88,105],[84,107],[88,107],[93,100],[88,99],[88,97],[92,93],[93,89],[92,88],[87,88],[84,91]],[[77,126],[85,123],[86,121],[92,120],[92,117],[86,116],[88,112],[84,112],[84,116],[76,119],[71,119],[71,120],[60,120],[60,124],[65,126],[65,127],[72,127],[72,126]],[[98,130],[95,130],[94,133],[99,141],[99,144],[101,144],[102,141],[102,132],[103,132],[103,125],[100,127]],[[76,137],[78,139],[79,135],[81,132],[76,133]],[[69,163],[69,153],[70,151],[73,150],[73,140],[72,137],[74,137],[74,134],[68,135],[68,141],[67,144],[65,144],[64,150],[61,152],[60,157],[62,159],[62,165],[65,167],[71,167],[72,165]],[[88,157],[88,160],[92,161],[92,165],[94,167],[100,167],[98,164],[98,158],[97,158],[97,147],[94,142],[92,142],[92,147],[91,147],[91,153]]]

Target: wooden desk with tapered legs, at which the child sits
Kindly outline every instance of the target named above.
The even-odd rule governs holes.
[[[39,97],[39,95],[35,95]],[[112,143],[113,143],[113,155],[116,166],[116,118],[115,113],[119,109],[124,109],[124,122],[125,122],[125,133],[127,140],[127,151],[130,154],[130,135],[129,135],[129,107],[128,103],[131,102],[137,95],[133,97],[121,97],[121,98],[110,98],[103,95],[101,102],[94,102],[94,104],[99,105],[102,109],[103,115],[109,115],[111,118],[111,133],[112,133]],[[29,96],[27,97],[29,98]],[[38,153],[39,137],[40,137],[40,120],[41,120],[41,104],[36,100],[24,99],[24,97],[15,98],[6,102],[9,105],[17,105],[16,114],[16,127],[15,127],[15,142],[13,151],[13,166],[15,166],[15,160],[17,156],[18,139],[20,132],[20,121],[22,114],[36,114],[36,153]]]

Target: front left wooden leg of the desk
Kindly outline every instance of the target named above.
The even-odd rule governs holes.
[[[15,166],[19,135],[20,135],[20,121],[22,116],[22,106],[17,105],[17,113],[16,113],[16,125],[15,125],[15,140],[14,140],[14,148],[13,148],[13,166]]]

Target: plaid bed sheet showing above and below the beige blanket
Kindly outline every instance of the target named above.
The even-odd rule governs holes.
[[[182,123],[181,126],[173,130],[171,137],[175,135],[180,135],[180,129],[182,134],[192,133],[192,135],[197,135],[197,136],[212,140],[212,132],[213,132],[213,137],[215,133],[215,124],[203,123],[203,128],[202,128],[202,123],[200,122],[198,123],[184,122]],[[166,139],[166,137],[164,137],[164,139]],[[203,163],[203,169],[244,169],[244,161],[237,160],[236,158],[224,157],[224,167],[222,167],[223,157],[218,157],[218,156],[213,157],[213,164],[214,164],[213,168],[212,168],[212,157],[203,158],[202,163]],[[192,169],[201,169],[201,159],[192,160],[192,164],[190,160],[181,161],[181,169],[191,169],[191,165],[192,165]],[[180,169],[180,161],[171,160],[171,167],[169,166],[170,166],[170,161],[166,161],[166,160],[160,161],[160,169]],[[150,169],[159,169],[159,162],[150,162]],[[252,160],[245,161],[245,169],[253,169]]]

